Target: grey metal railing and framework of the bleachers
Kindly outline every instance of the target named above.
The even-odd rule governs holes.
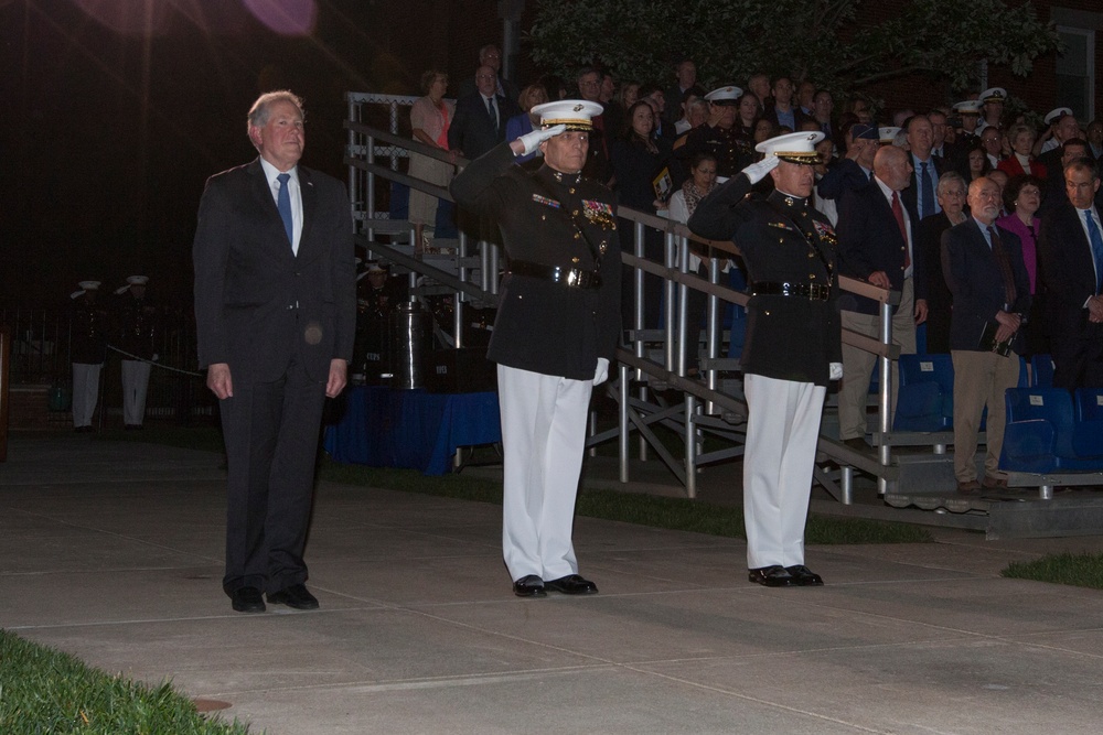
[[[379,203],[384,192],[379,182],[403,184],[426,192],[442,201],[451,202],[448,191],[404,173],[400,161],[409,152],[419,153],[458,166],[464,160],[453,160],[447,152],[414,141],[399,125],[399,110],[411,105],[415,97],[350,93],[346,95],[349,117],[345,122],[349,140],[345,164],[349,170],[351,198],[357,248],[368,257],[382,258],[409,272],[411,287],[431,282],[437,288],[454,294],[456,346],[462,345],[463,305],[496,304],[499,263],[501,253],[493,244],[472,242],[462,230],[454,248],[446,255],[420,255],[414,247],[414,227],[405,220],[393,220],[382,212]],[[374,122],[375,125],[371,125]],[[382,129],[381,125],[388,129]],[[745,305],[747,294],[721,283],[720,262],[738,256],[739,249],[730,241],[707,241],[693,235],[684,225],[653,214],[620,207],[618,215],[632,223],[631,233],[621,233],[622,260],[632,269],[633,278],[625,288],[633,293],[633,323],[625,325],[627,344],[619,349],[619,379],[607,385],[607,391],[619,407],[617,425],[603,431],[591,428],[588,445],[618,440],[620,479],[629,480],[631,433],[639,435],[641,458],[653,451],[685,486],[686,494],[696,496],[697,468],[738,456],[742,452],[743,423],[747,406],[742,401],[741,381],[728,378],[738,370],[738,363],[727,359],[722,331],[721,302]],[[662,262],[644,257],[644,237],[647,229],[658,230],[664,237]],[[688,241],[707,248],[708,278],[690,272]],[[644,273],[657,275],[663,281],[664,302],[677,304],[666,309],[660,329],[644,329]],[[846,344],[878,355],[879,359],[879,425],[876,434],[888,436],[891,429],[887,407],[890,401],[890,364],[899,356],[892,345],[891,306],[899,303],[899,293],[887,291],[864,281],[840,279],[846,291],[869,296],[881,303],[884,329],[878,339],[844,332]],[[707,296],[707,326],[704,332],[704,352],[700,360],[700,379],[687,375],[687,356],[698,349],[686,329],[686,313],[690,291]],[[417,294],[417,289],[413,291]],[[415,298],[417,298],[415,295]],[[682,396],[681,401],[667,402],[664,396],[671,390]],[[592,423],[592,422],[591,422]],[[676,457],[660,441],[654,425],[665,425],[681,434],[682,456]],[[702,450],[702,437],[715,434],[733,444],[715,452]],[[820,452],[824,460],[832,460],[839,469],[829,469],[826,462],[817,463],[816,479],[836,500],[853,501],[853,472],[859,469],[877,477],[878,490],[884,494],[897,477],[889,441],[876,442],[876,455],[853,450],[837,439],[821,435]]]

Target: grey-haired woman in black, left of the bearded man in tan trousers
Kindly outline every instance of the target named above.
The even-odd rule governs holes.
[[[919,248],[923,253],[927,272],[927,352],[950,353],[950,307],[953,295],[942,274],[942,234],[954,225],[960,225],[965,214],[965,180],[956,171],[947,171],[939,177],[934,191],[942,212],[925,217],[919,223]]]

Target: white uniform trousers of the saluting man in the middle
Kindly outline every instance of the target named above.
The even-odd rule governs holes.
[[[497,366],[504,497],[502,549],[514,581],[578,573],[570,542],[586,448],[590,380]]]

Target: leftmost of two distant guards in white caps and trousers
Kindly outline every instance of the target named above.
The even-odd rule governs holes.
[[[96,303],[99,281],[81,281],[79,291],[69,298],[73,305],[72,343],[73,361],[73,428],[78,432],[92,431],[92,414],[99,399],[99,371],[107,359],[107,310]]]

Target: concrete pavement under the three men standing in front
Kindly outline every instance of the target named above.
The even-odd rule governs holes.
[[[1103,593],[1005,580],[1103,537],[814,547],[822,588],[746,580],[731,539],[579,518],[599,595],[520,599],[499,506],[321,483],[321,609],[231,610],[216,454],[15,435],[0,627],[254,732],[1088,733]]]

